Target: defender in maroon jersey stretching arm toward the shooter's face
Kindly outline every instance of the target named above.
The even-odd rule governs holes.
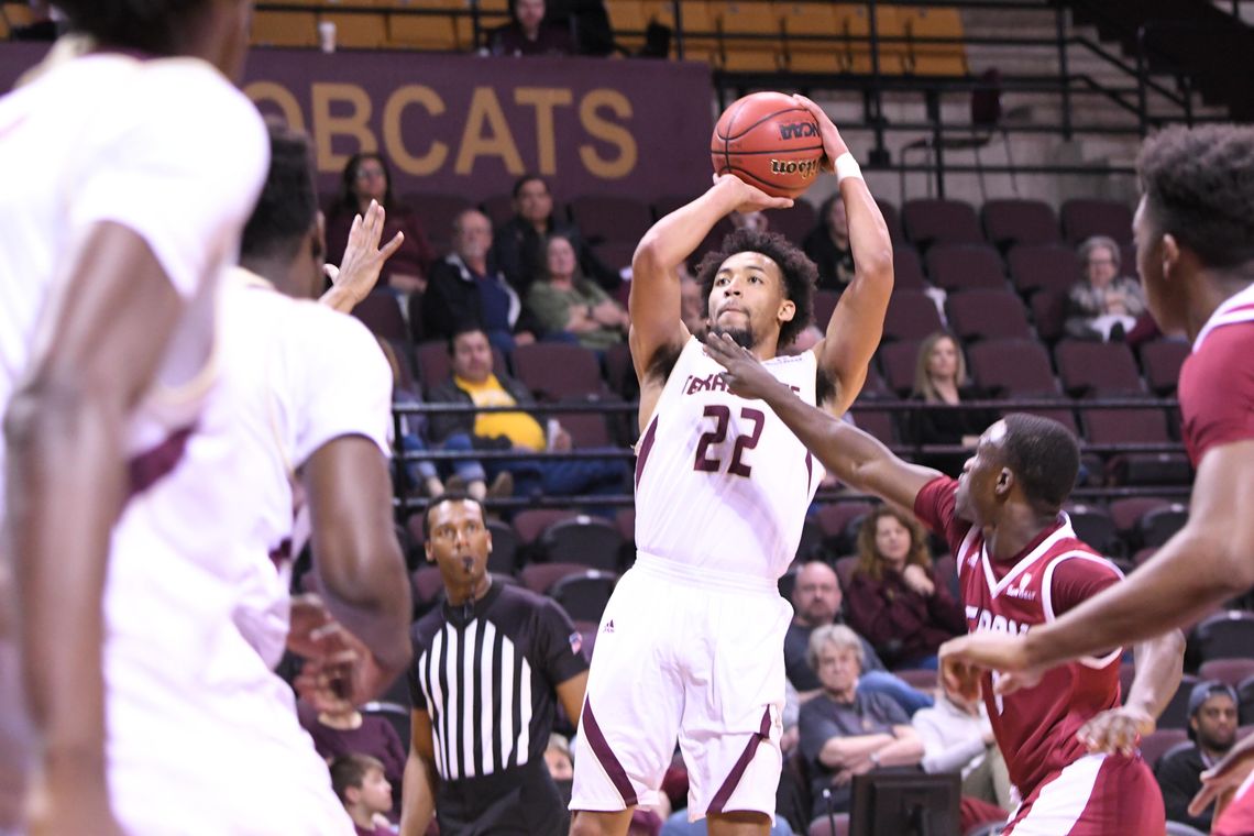
[[[976,634],[1041,629],[1120,582],[1061,511],[1080,466],[1080,447],[1061,424],[1018,414],[997,421],[954,480],[902,461],[865,432],[803,404],[731,341],[712,336],[707,346],[727,367],[731,391],[764,399],[843,483],[913,508],[946,536]],[[987,674],[946,682],[968,699],[983,692],[1022,801],[1004,832],[1162,832],[1162,797],[1134,747],[1176,691],[1184,637],[1174,630],[1136,648],[1136,678],[1122,707],[1121,653],[1105,648],[1009,696],[996,693]]]

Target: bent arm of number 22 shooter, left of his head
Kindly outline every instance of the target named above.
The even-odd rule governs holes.
[[[731,212],[757,212],[793,206],[730,174],[716,177],[705,194],[655,223],[632,258],[631,353],[643,382],[660,348],[676,352],[688,338],[680,318],[678,266],[701,246],[714,226]]]

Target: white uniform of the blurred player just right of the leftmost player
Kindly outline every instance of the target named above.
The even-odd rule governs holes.
[[[391,371],[360,322],[243,271],[219,300],[221,375],[197,431],[114,531],[110,792],[138,833],[351,833],[272,667],[292,476],[345,435],[387,454]]]

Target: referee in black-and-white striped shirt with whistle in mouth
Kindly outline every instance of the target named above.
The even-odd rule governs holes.
[[[566,833],[544,747],[557,702],[572,718],[583,708],[579,634],[556,602],[492,582],[478,500],[435,498],[423,530],[448,600],[410,632],[401,836],[423,836],[433,807],[440,836]]]

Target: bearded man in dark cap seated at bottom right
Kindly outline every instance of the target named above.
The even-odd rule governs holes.
[[[1154,767],[1167,821],[1210,832],[1214,806],[1190,816],[1189,802],[1201,790],[1201,773],[1236,745],[1236,692],[1223,682],[1199,682],[1189,693],[1189,739],[1193,746],[1169,751]]]

